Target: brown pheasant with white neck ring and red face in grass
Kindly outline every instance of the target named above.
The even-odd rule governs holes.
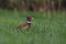
[[[18,32],[19,32],[19,31],[22,31],[22,29],[30,29],[31,23],[32,23],[32,22],[31,22],[32,20],[33,20],[33,18],[28,16],[28,18],[26,18],[26,23],[21,24],[21,25],[19,25],[19,26],[16,28]]]

